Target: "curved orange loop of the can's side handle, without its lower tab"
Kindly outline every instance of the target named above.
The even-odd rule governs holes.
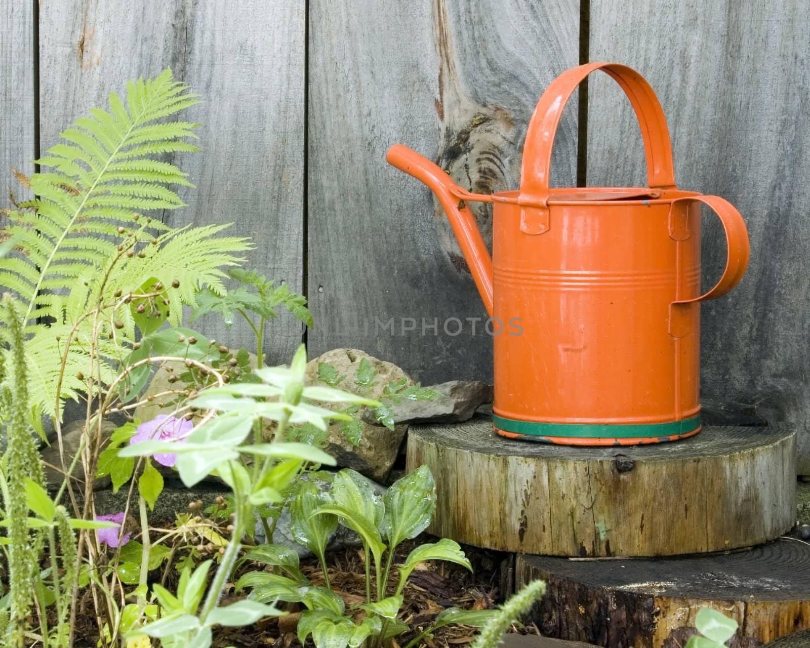
[[[748,228],[745,226],[742,215],[734,205],[719,196],[689,196],[678,198],[672,204],[684,200],[703,203],[718,215],[720,222],[723,224],[723,230],[726,232],[726,267],[723,270],[723,275],[720,275],[720,279],[709,292],[692,299],[673,301],[673,305],[693,304],[696,301],[708,301],[722,297],[740,283],[740,279],[743,278],[745,269],[748,267],[748,257],[751,254],[748,243]]]

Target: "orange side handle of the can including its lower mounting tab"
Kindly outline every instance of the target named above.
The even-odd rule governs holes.
[[[748,228],[734,205],[719,196],[686,196],[672,202],[671,210],[676,203],[697,201],[710,207],[718,215],[723,230],[726,232],[726,267],[714,288],[690,299],[679,299],[670,304],[669,331],[673,337],[682,337],[689,331],[689,307],[700,301],[722,297],[734,288],[745,274],[750,255]],[[670,211],[672,214],[672,211]]]

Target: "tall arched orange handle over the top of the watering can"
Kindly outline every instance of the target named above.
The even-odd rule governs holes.
[[[667,118],[650,84],[632,67],[596,62],[572,67],[558,76],[540,97],[531,116],[523,147],[518,204],[523,232],[540,234],[548,229],[548,180],[552,148],[563,109],[573,91],[591,72],[603,70],[625,91],[642,128],[650,188],[675,189],[672,147]]]

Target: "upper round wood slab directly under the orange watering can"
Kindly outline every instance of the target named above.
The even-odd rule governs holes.
[[[488,419],[411,427],[407,467],[437,488],[429,531],[553,556],[672,556],[777,538],[796,515],[795,433],[706,427],[611,448],[505,439]]]

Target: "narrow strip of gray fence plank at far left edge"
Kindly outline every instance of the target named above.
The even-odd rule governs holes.
[[[0,207],[27,198],[12,168],[26,176],[34,170],[34,6],[0,0]],[[4,222],[0,215],[0,224]]]

